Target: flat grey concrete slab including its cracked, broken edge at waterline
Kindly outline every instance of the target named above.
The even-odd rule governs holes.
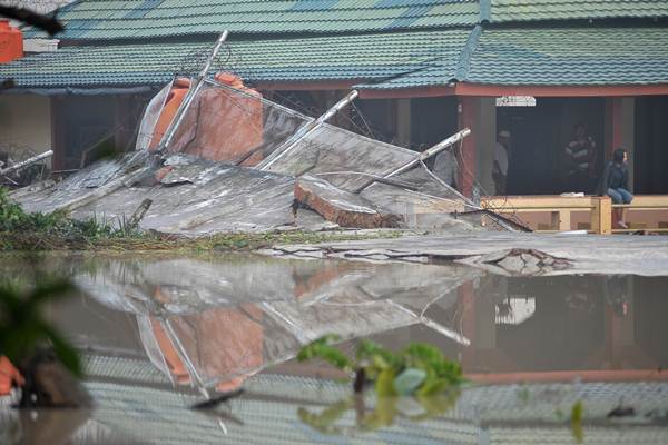
[[[364,261],[462,263],[505,276],[620,274],[665,276],[668,237],[448,233],[273,246],[264,255]]]

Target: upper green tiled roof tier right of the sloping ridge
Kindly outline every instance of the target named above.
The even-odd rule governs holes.
[[[492,23],[668,17],[666,0],[482,0],[483,11],[490,1]]]

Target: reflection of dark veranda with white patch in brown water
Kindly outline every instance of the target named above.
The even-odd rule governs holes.
[[[472,342],[461,350],[464,369],[536,378],[546,372],[649,376],[668,363],[660,347],[667,334],[659,315],[668,309],[665,285],[665,278],[630,276],[488,276],[477,288],[464,285],[460,322]]]

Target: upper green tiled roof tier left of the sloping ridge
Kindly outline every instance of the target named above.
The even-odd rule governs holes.
[[[477,0],[80,0],[59,39],[342,33],[475,24]],[[38,37],[28,30],[26,37]]]

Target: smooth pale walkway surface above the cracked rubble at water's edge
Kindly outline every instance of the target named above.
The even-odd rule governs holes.
[[[511,248],[541,250],[554,257],[569,259],[573,265],[572,268],[554,270],[550,275],[668,276],[668,236],[466,233],[277,246],[275,250],[265,253],[303,257],[433,261],[469,258]]]

